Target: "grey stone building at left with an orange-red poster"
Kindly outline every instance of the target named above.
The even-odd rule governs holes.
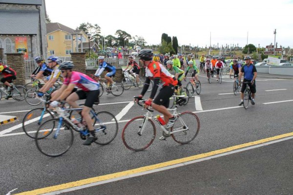
[[[0,0],[0,48],[4,53],[22,52],[24,58],[46,56],[45,34],[44,0]]]

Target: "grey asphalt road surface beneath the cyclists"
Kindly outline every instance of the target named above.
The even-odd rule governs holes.
[[[121,139],[126,121],[144,114],[137,105],[126,110],[124,115],[121,113],[140,89],[131,88],[118,98],[103,94],[101,105],[96,110],[122,116],[118,135],[112,143],[86,147],[75,134],[72,148],[56,158],[44,156],[37,150],[34,140],[22,132],[20,124],[27,112],[25,110],[35,107],[25,102],[1,100],[0,114],[19,119],[0,126],[0,194],[6,195],[13,190],[11,194],[17,194],[60,184],[68,187],[68,182],[88,181],[97,176],[140,169],[293,132],[292,79],[258,77],[256,104],[244,109],[238,107],[240,95],[231,94],[232,80],[228,76],[222,84],[215,80],[209,84],[203,74],[199,78],[203,110],[195,108],[194,97],[187,106],[179,108],[180,111],[195,111],[199,116],[201,128],[198,136],[186,145],[180,145],[172,138],[160,141],[161,131],[157,126],[155,141],[142,152],[129,151]],[[288,139],[230,155],[224,152],[225,155],[217,158],[173,169],[165,166],[166,170],[161,172],[138,174],[80,190],[77,188],[67,194],[290,195],[293,194],[292,143],[292,139]]]

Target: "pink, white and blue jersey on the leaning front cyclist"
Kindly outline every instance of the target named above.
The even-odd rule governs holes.
[[[100,88],[100,84],[81,72],[72,71],[71,77],[69,79],[65,78],[63,85],[68,86],[70,83],[75,84],[78,88],[86,92]]]

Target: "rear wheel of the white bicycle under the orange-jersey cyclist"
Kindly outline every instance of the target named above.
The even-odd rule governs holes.
[[[175,121],[171,131],[182,130],[172,133],[172,138],[180,143],[187,144],[191,142],[198,134],[200,129],[199,118],[192,112],[183,112]]]

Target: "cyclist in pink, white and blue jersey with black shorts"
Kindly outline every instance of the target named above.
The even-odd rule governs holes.
[[[64,81],[60,90],[58,90],[56,95],[51,98],[50,106],[55,108],[59,104],[57,100],[66,99],[67,103],[72,108],[80,108],[76,101],[85,99],[84,107],[80,114],[86,122],[87,128],[90,132],[90,136],[87,137],[84,142],[84,145],[89,146],[97,140],[89,111],[93,104],[99,101],[100,84],[81,72],[72,71],[73,67],[74,65],[72,62],[63,62],[59,66]],[[78,87],[81,90],[72,93],[75,87]]]

